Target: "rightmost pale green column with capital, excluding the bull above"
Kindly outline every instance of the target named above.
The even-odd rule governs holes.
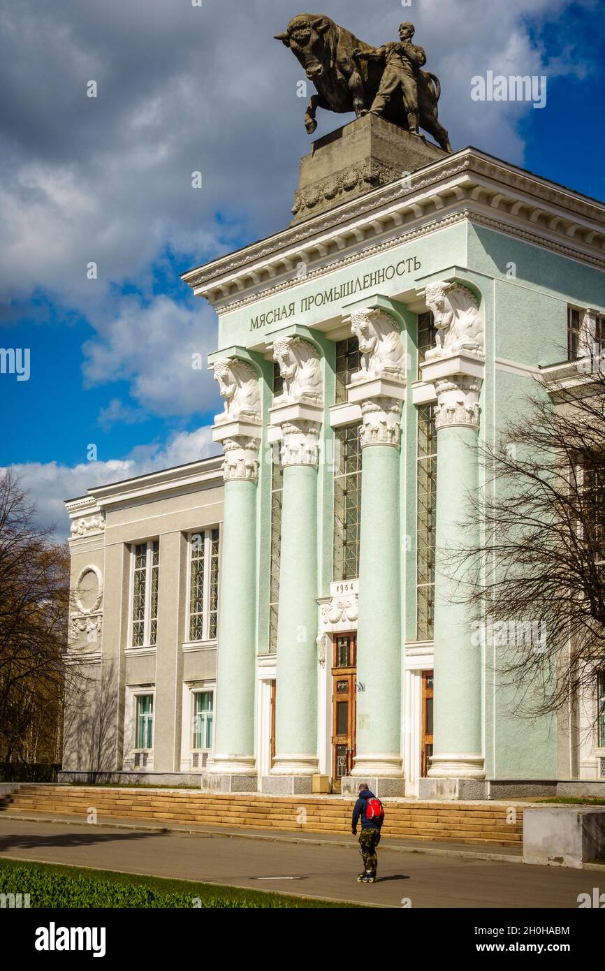
[[[479,487],[477,438],[483,362],[458,355],[422,366],[437,393],[435,528],[434,746],[428,775],[455,784],[435,794],[462,796],[459,780],[485,779],[482,745],[482,653],[474,645],[473,610],[461,601],[452,552],[479,540],[469,530],[470,497]],[[478,528],[478,527],[477,527]],[[472,577],[466,570],[466,582]],[[467,794],[472,788],[465,790]],[[420,793],[422,794],[422,793]],[[480,794],[479,789],[477,794]]]

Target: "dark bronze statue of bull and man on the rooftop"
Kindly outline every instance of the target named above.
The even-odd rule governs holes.
[[[373,48],[323,14],[292,17],[276,40],[292,51],[317,88],[305,113],[309,134],[318,126],[318,108],[357,117],[371,112],[412,134],[422,127],[442,149],[453,151],[437,118],[439,79],[421,70],[426,57],[412,44],[413,35],[414,25],[402,23],[400,43]]]

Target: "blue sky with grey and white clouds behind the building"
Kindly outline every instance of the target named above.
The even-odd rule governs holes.
[[[454,149],[605,198],[602,3],[402,6],[331,0],[324,13],[375,45],[412,18]],[[216,318],[180,274],[290,218],[310,139],[301,69],[272,38],[296,12],[278,0],[0,0],[0,346],[31,354],[29,381],[0,375],[0,464],[57,535],[64,498],[213,448],[217,390],[190,359],[215,349]],[[471,101],[487,70],[546,75],[546,107]],[[348,120],[319,112],[317,134]]]

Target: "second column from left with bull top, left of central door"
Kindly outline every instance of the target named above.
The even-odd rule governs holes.
[[[318,466],[323,420],[319,352],[287,336],[273,353],[284,393],[270,411],[284,469],[276,680],[276,757],[266,791],[312,791],[318,771]]]

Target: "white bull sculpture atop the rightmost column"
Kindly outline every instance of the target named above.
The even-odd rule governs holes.
[[[437,328],[437,346],[426,352],[425,360],[459,352],[483,357],[484,324],[475,294],[466,286],[439,281],[426,287],[424,297]]]

